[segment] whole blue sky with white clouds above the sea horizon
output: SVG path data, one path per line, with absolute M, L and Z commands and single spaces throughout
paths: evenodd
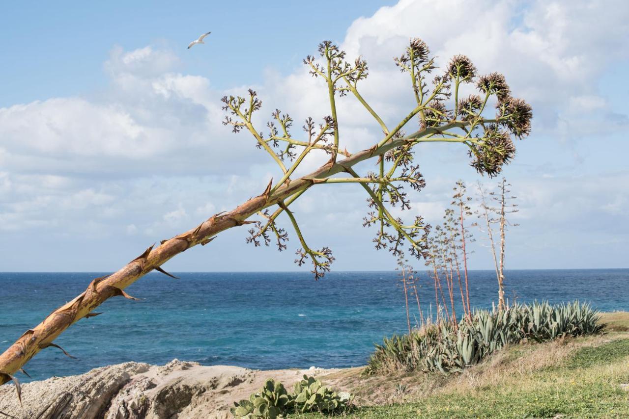
M 205 31 L 206 45 L 187 50 Z M 395 124 L 413 99 L 392 58 L 413 37 L 440 65 L 462 53 L 481 73 L 504 73 L 513 95 L 533 106 L 532 134 L 503 171 L 520 205 L 507 267 L 628 267 L 626 2 L 110 1 L 3 7 L 0 271 L 115 271 L 153 242 L 258 195 L 278 170 L 250 136 L 221 124 L 220 98 L 257 90 L 260 129 L 276 108 L 296 126 L 320 121 L 330 113 L 326 88 L 301 62 L 320 41 L 367 60 L 362 94 Z M 339 119 L 342 147 L 379 141 L 351 97 L 340 101 Z M 459 179 L 470 193 L 476 182 L 497 183 L 457 144 L 422 144 L 416 158 L 427 186 L 411 194 L 408 219 L 441 222 Z M 361 226 L 359 186 L 313 188 L 294 212 L 311 247 L 333 249 L 333 269 L 394 268 Z M 293 264 L 299 246 L 288 220 L 279 224 L 291 237 L 283 253 L 245 244 L 240 227 L 164 268 L 304 269 Z M 484 235 L 473 232 L 470 268 L 489 269 Z

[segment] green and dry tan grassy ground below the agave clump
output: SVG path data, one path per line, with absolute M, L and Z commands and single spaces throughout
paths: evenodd
M 462 374 L 323 378 L 362 404 L 352 418 L 629 418 L 629 313 L 606 313 L 607 333 L 508 347 Z M 291 415 L 317 418 L 320 414 Z

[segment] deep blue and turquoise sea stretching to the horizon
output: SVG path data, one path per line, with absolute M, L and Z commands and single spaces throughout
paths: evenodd
M 103 273 L 0 273 L 0 351 Z M 111 298 L 102 315 L 82 319 L 26 365 L 33 379 L 65 376 L 125 361 L 173 358 L 259 369 L 364 365 L 374 342 L 404 332 L 404 295 L 396 271 L 300 273 L 158 273 Z M 579 299 L 599 310 L 629 310 L 629 269 L 513 270 L 507 293 L 520 302 Z M 470 273 L 475 307 L 496 300 L 493 271 Z M 434 291 L 421 277 L 420 302 Z M 459 297 L 460 300 L 460 297 Z M 418 317 L 416 302 L 411 315 Z M 460 303 L 460 302 L 459 302 Z M 461 312 L 459 307 L 459 312 Z M 26 377 L 22 381 L 28 381 Z

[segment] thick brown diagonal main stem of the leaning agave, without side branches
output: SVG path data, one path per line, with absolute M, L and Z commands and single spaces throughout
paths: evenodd
M 147 249 L 140 257 L 133 259 L 115 273 L 91 281 L 87 289 L 74 300 L 57 308 L 33 329 L 26 330 L 13 345 L 0 355 L 0 384 L 7 383 L 11 379 L 11 375 L 16 373 L 39 351 L 50 346 L 70 325 L 81 318 L 89 317 L 89 314 L 108 298 L 120 295 L 128 297 L 122 290 L 153 269 L 160 268 L 162 264 L 177 254 L 197 244 L 206 244 L 216 234 L 231 227 L 241 226 L 251 215 L 311 187 L 315 183 L 313 179 L 328 178 L 342 173 L 361 161 L 384 155 L 392 148 L 407 143 L 420 143 L 423 136 L 442 132 L 460 124 L 465 125 L 467 122 L 450 122 L 442 127 L 427 128 L 405 138 L 389 139 L 381 145 L 374 144 L 372 148 L 355 153 L 345 160 L 336 163 L 330 161 L 309 175 L 292 180 L 273 192 L 267 189 L 262 195 L 244 202 L 230 212 L 214 215 L 199 226 L 163 241 L 156 248 Z

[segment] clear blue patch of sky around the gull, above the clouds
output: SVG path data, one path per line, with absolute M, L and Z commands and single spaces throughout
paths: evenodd
M 125 50 L 157 45 L 183 54 L 199 31 L 212 31 L 204 53 L 181 55 L 180 70 L 201 74 L 223 89 L 262 81 L 250 63 L 286 72 L 304 51 L 323 39 L 340 40 L 352 21 L 394 1 L 296 2 L 110 1 L 45 3 L 37 8 L 11 2 L 0 16 L 0 45 L 9 65 L 0 106 L 48 97 L 89 95 L 108 79 L 103 61 L 114 45 Z M 333 10 L 333 13 L 330 11 Z

